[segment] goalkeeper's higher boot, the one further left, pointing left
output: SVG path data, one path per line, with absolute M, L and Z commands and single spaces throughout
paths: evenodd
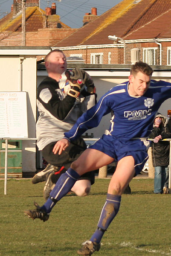
M 53 171 L 57 172 L 58 167 L 49 163 L 43 171 L 35 174 L 35 176 L 32 178 L 32 183 L 36 184 L 36 183 L 45 181 L 46 176 Z

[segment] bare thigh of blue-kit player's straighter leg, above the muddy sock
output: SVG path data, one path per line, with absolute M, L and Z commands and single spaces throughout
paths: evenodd
M 110 180 L 108 193 L 113 195 L 121 195 L 134 175 L 134 158 L 132 156 L 123 157 L 121 160 L 119 160 L 116 171 Z

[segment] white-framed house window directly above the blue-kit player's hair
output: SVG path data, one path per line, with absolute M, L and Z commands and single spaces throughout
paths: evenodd
M 143 61 L 148 65 L 157 64 L 157 47 L 143 49 Z

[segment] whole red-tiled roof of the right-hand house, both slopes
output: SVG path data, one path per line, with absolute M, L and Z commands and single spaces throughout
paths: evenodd
M 121 38 L 154 38 L 156 36 L 170 35 L 171 0 L 123 0 L 96 20 L 88 23 L 75 33 L 55 44 L 54 47 L 67 47 L 90 44 L 111 44 L 108 35 L 116 35 Z M 166 13 L 167 12 L 167 13 Z M 165 19 L 163 22 L 160 15 Z M 146 26 L 155 20 L 155 26 Z M 160 23 L 160 24 L 159 24 Z M 145 29 L 141 27 L 145 26 Z M 160 29 L 159 29 L 160 28 Z M 159 33 L 157 34 L 158 30 Z M 133 32 L 135 31 L 136 32 Z M 130 34 L 132 32 L 132 34 Z M 126 37 L 129 35 L 129 37 Z M 169 36 L 170 37 L 170 36 Z

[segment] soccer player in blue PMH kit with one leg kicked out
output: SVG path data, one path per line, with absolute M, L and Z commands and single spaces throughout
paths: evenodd
M 61 175 L 46 203 L 42 207 L 37 206 L 37 209 L 25 211 L 29 218 L 48 220 L 52 208 L 81 175 L 118 161 L 97 229 L 90 240 L 82 244 L 79 255 L 99 251 L 102 236 L 119 211 L 124 189 L 140 173 L 148 159 L 147 138 L 153 128 L 155 115 L 162 102 L 171 98 L 171 83 L 151 80 L 152 73 L 152 68 L 142 61 L 133 64 L 129 81 L 110 89 L 94 107 L 78 118 L 70 131 L 64 133 L 65 137 L 53 148 L 54 154 L 61 154 L 70 141 L 80 137 L 87 129 L 98 126 L 102 116 L 111 111 L 114 113 L 109 130 Z

